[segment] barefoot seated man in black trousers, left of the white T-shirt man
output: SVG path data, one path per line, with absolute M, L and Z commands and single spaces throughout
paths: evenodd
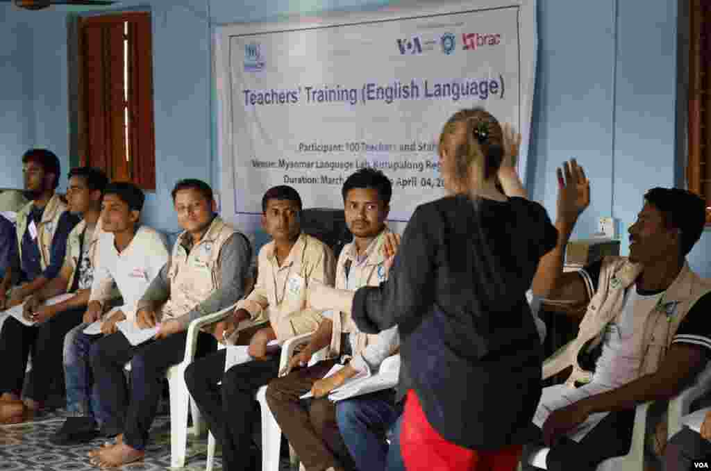
M 26 326 L 11 317 L 6 319 L 0 334 L 1 355 L 7 361 L 0 380 L 4 383 L 2 391 L 6 398 L 19 399 L 27 353 L 32 353 L 32 370 L 24 404 L 18 401 L 4 403 L 3 406 L 10 410 L 0 412 L 3 418 L 15 422 L 26 418 L 28 411 L 36 411 L 46 400 L 50 381 L 61 369 L 64 335 L 81 322 L 89 300 L 96 247 L 102 235 L 101 229 L 97 228 L 97 220 L 107 178 L 100 170 L 81 167 L 72 169 L 68 179 L 69 211 L 81 216 L 82 221 L 69 234 L 62 269 L 40 290 L 25 298 L 23 317 L 35 324 Z M 74 296 L 52 305 L 42 305 L 64 293 L 74 293 Z

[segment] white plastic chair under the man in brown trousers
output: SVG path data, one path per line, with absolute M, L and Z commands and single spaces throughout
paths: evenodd
M 306 345 L 311 341 L 311 335 L 301 334 L 284 342 L 281 356 L 279 357 L 279 371 L 282 371 L 289 364 L 289 359 L 294 355 L 296 348 Z M 327 348 L 327 347 L 326 347 Z M 309 366 L 325 358 L 326 348 L 316 352 L 311 356 Z M 266 398 L 267 386 L 262 386 L 257 390 L 257 401 L 260 403 L 262 411 L 262 471 L 279 471 L 279 458 L 282 445 L 282 429 L 279 428 L 277 420 L 269 410 Z M 206 471 L 212 471 L 215 461 L 215 437 L 212 433 L 208 436 L 208 463 Z

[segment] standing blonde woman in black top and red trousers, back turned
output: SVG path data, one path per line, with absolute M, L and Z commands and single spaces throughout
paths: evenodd
M 393 444 L 408 471 L 513 471 L 526 441 L 542 350 L 525 292 L 557 231 L 524 197 L 519 140 L 481 108 L 449 118 L 439 141 L 449 195 L 417 207 L 389 279 L 348 306 L 363 332 L 400 330 L 406 402 Z M 334 297 L 351 299 L 319 287 L 312 304 Z

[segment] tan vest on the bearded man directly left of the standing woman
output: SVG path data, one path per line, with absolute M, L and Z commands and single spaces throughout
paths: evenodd
M 350 276 L 355 276 L 355 270 L 360 272 L 358 287 L 379 286 L 380 282 L 385 281 L 387 276 L 384 271 L 385 256 L 383 255 L 383 244 L 385 243 L 385 235 L 387 233 L 390 233 L 390 229 L 386 227 L 385 230 L 378 235 L 378 238 L 375 240 L 375 246 L 368 255 L 368 259 L 365 260 L 363 267 L 355 268 L 355 266 L 353 266 L 355 264 L 351 265 Z M 341 250 L 341 255 L 338 256 L 338 265 L 336 265 L 336 289 L 346 289 L 346 270 L 344 267 L 346 260 L 348 260 L 348 253 L 353 250 L 354 244 L 355 242 L 351 242 L 344 245 Z M 341 355 L 341 332 L 344 332 L 344 329 L 348 332 L 355 332 L 353 355 L 360 354 L 369 344 L 378 342 L 378 334 L 360 332 L 355 322 L 353 322 L 351 313 L 341 312 L 341 315 L 333 316 L 333 334 L 331 335 L 331 346 L 328 351 L 329 357 Z

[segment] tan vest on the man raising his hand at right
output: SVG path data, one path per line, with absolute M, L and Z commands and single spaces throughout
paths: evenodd
M 582 369 L 578 364 L 578 355 L 591 340 L 589 349 L 599 345 L 607 324 L 618 322 L 624 309 L 625 292 L 627 289 L 635 289 L 634 282 L 641 271 L 640 265 L 631 263 L 625 257 L 603 259 L 597 292 L 590 299 L 577 337 L 545 362 L 543 379 L 572 365 L 573 371 L 565 381 L 568 386 L 574 387 L 576 382 L 587 383 L 592 380 L 592 371 Z M 633 338 L 638 345 L 636 348 L 642 352 L 639 376 L 657 371 L 680 322 L 694 303 L 709 290 L 711 280 L 700 278 L 684 263 L 661 300 L 638 300 L 635 303 Z

